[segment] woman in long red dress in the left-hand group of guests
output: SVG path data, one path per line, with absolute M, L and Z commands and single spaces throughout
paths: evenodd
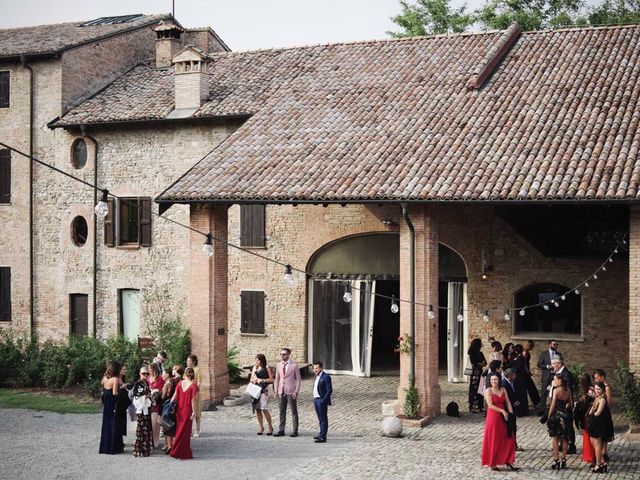
M 193 458 L 191 452 L 191 428 L 195 418 L 195 397 L 198 393 L 198 385 L 194 378 L 193 368 L 187 368 L 184 372 L 184 380 L 176 386 L 176 393 L 172 401 L 176 402 L 176 434 L 173 437 L 173 445 L 169 455 L 174 458 Z

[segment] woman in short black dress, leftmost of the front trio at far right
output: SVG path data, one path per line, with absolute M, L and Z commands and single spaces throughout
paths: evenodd
M 567 468 L 567 451 L 569 450 L 569 435 L 571 422 L 573 421 L 573 398 L 571 390 L 562 375 L 554 375 L 551 380 L 553 395 L 551 406 L 549 407 L 549 419 L 547 420 L 547 430 L 552 440 L 553 448 L 553 470 Z M 560 456 L 562 449 L 562 456 Z

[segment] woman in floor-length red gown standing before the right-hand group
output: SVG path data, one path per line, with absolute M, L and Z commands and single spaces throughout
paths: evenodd
M 513 466 L 516 460 L 515 432 L 512 436 L 507 432 L 509 414 L 513 415 L 509 396 L 500 386 L 498 374 L 492 373 L 489 381 L 491 388 L 484 392 L 487 419 L 482 440 L 482 465 L 491 467 L 492 470 L 499 470 L 498 465 L 506 465 L 510 470 L 520 470 Z

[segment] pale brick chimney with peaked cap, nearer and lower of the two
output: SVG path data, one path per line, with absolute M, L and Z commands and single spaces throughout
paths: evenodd
M 200 108 L 209 97 L 207 55 L 193 45 L 173 59 L 175 65 L 175 109 Z

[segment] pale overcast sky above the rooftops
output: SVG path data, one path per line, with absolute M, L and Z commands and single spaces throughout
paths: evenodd
M 463 3 L 460 1 L 460 3 Z M 477 8 L 483 0 L 469 0 Z M 387 38 L 399 0 L 175 0 L 184 27 L 210 26 L 232 50 Z M 43 8 L 46 6 L 46 8 Z M 171 12 L 171 0 L 0 0 L 0 28 Z

